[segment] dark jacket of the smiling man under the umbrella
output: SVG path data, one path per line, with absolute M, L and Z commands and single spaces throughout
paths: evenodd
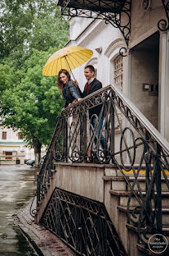
M 88 84 L 88 83 L 87 83 Z M 85 88 L 83 90 L 83 93 L 82 93 L 82 98 L 86 97 L 87 96 L 87 84 L 85 85 Z M 92 94 L 94 92 L 96 92 L 98 89 L 101 89 L 102 88 L 102 84 L 99 80 L 96 80 L 96 78 L 91 82 L 91 88 L 89 90 L 89 94 Z M 89 117 L 91 118 L 91 116 L 93 114 L 96 114 L 97 116 L 99 116 L 100 114 L 100 111 L 101 111 L 101 107 L 103 105 L 99 105 L 97 107 L 92 107 L 91 109 L 89 109 Z

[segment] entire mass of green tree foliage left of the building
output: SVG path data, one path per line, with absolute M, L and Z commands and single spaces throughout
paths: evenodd
M 48 144 L 63 107 L 56 77 L 42 75 L 52 53 L 64 47 L 69 25 L 56 1 L 0 2 L 0 115 L 29 144 Z

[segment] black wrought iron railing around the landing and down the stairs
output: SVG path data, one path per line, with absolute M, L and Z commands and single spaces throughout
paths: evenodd
M 98 106 L 99 117 L 91 116 L 90 110 Z M 113 163 L 130 189 L 128 222 L 138 227 L 140 241 L 147 244 L 149 233 L 162 233 L 162 190 L 165 196 L 169 190 L 168 159 L 167 141 L 116 85 L 109 85 L 65 108 L 57 118 L 38 176 L 38 202 L 56 162 Z M 129 173 L 133 181 L 128 179 Z M 140 184 L 140 176 L 145 176 L 144 184 Z

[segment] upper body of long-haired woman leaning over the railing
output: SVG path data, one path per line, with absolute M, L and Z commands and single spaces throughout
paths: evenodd
M 60 70 L 57 78 L 57 85 L 65 99 L 64 107 L 68 107 L 69 103 L 75 103 L 76 101 L 81 100 L 78 86 L 70 79 L 68 71 L 64 69 Z

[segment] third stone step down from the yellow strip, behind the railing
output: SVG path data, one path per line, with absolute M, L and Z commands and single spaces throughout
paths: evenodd
M 119 212 L 127 214 L 127 207 L 118 206 L 117 208 L 118 208 Z M 134 207 L 129 208 L 129 213 L 132 213 L 133 209 L 134 209 Z M 154 211 L 154 209 L 152 211 Z M 136 219 L 139 217 L 139 213 L 140 213 L 140 209 L 136 209 L 136 211 L 135 211 Z M 135 219 L 135 221 L 136 221 L 136 219 Z M 162 208 L 162 224 L 165 225 L 168 223 L 169 223 L 169 208 Z

